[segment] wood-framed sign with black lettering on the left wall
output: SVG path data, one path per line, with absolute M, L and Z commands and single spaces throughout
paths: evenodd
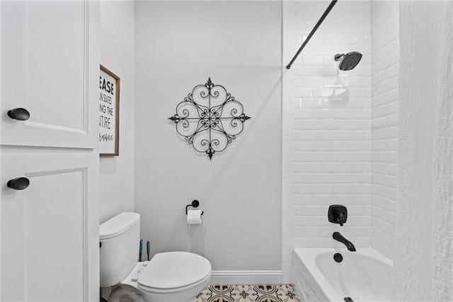
M 117 156 L 120 132 L 120 78 L 102 65 L 99 91 L 99 156 Z

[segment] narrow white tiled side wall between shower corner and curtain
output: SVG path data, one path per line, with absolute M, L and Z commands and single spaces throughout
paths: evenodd
M 372 1 L 372 247 L 393 259 L 398 197 L 398 1 Z

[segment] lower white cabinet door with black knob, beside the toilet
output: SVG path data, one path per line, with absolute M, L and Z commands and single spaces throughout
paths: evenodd
M 24 150 L 1 151 L 0 300 L 96 301 L 98 154 Z

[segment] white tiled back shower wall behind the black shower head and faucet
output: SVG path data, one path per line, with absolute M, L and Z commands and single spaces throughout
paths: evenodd
M 284 66 L 330 1 L 285 1 Z M 371 245 L 371 25 L 369 1 L 338 1 L 283 79 L 283 249 Z M 358 51 L 340 71 L 334 56 Z M 328 222 L 330 204 L 348 207 L 343 226 Z M 344 245 L 343 245 L 344 247 Z M 286 277 L 286 276 L 285 276 Z M 284 279 L 285 281 L 285 279 Z

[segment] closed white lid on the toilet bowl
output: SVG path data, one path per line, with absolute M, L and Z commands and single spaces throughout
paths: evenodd
M 154 255 L 137 282 L 154 289 L 188 286 L 211 273 L 211 263 L 192 252 L 161 252 Z

